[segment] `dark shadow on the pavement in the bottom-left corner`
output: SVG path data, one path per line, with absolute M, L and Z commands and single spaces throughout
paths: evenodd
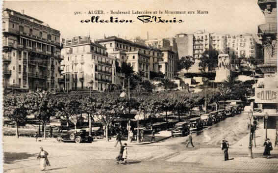
M 23 160 L 35 156 L 37 154 L 28 154 L 27 152 L 4 152 L 4 163 L 10 164 L 16 160 Z

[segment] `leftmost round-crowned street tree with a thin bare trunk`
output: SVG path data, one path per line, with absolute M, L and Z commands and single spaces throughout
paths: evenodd
M 27 107 L 25 98 L 5 97 L 3 99 L 3 116 L 15 122 L 16 138 L 19 138 L 19 124 L 27 119 Z

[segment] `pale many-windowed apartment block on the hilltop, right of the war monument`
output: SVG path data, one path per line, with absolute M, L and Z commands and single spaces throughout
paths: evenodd
M 227 35 L 226 38 L 227 54 L 234 54 L 237 58 L 257 58 L 257 43 L 252 34 Z

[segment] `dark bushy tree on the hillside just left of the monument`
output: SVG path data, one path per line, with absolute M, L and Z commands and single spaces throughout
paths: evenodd
M 218 52 L 216 50 L 205 50 L 200 58 L 199 67 L 202 72 L 208 68 L 211 71 L 218 64 Z

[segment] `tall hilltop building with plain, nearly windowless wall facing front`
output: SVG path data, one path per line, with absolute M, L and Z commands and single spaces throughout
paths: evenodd
M 193 34 L 179 33 L 175 38 L 178 58 L 193 56 Z

